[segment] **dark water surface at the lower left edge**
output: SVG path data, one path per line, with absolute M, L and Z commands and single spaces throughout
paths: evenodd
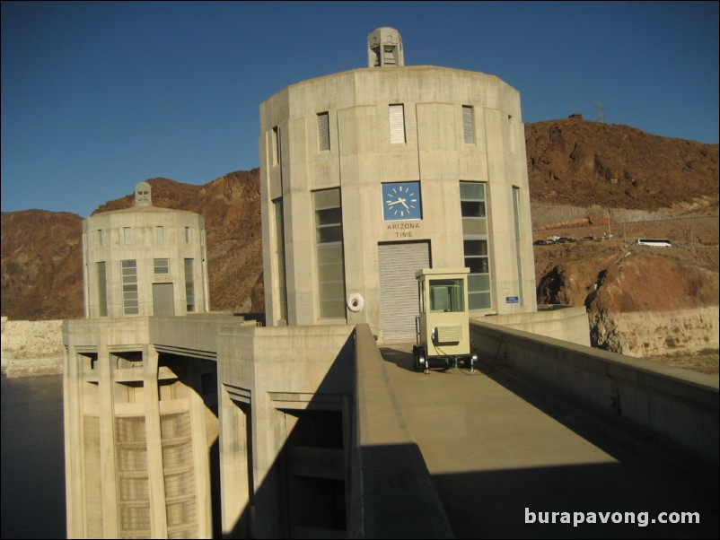
M 3 538 L 65 538 L 62 376 L 2 377 Z

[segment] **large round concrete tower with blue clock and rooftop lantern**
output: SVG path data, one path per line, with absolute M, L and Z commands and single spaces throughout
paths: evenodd
M 370 32 L 367 58 L 260 105 L 268 325 L 412 341 L 415 272 L 431 266 L 470 268 L 473 317 L 536 311 L 518 92 L 405 65 L 391 28 Z

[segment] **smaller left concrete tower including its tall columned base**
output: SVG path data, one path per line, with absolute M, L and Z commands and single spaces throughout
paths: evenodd
M 83 222 L 85 318 L 63 328 L 68 538 L 212 536 L 215 362 L 189 360 L 180 322 L 208 315 L 206 265 L 202 216 L 154 206 L 145 182 Z

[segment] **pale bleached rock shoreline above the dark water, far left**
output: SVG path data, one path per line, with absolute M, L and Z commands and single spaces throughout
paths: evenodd
M 2 370 L 8 378 L 63 372 L 62 320 L 2 322 Z

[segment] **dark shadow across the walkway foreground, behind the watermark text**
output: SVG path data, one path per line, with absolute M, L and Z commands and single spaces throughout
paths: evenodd
M 649 483 L 638 485 L 648 476 Z M 468 472 L 434 475 L 433 482 L 457 538 L 718 535 L 716 499 L 638 472 L 637 464 Z M 677 522 L 660 523 L 661 518 Z

